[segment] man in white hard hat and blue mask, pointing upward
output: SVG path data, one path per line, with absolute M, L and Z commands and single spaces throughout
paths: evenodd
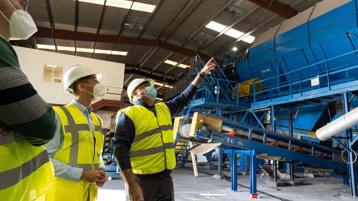
M 152 79 L 134 79 L 127 92 L 134 106 L 116 117 L 114 155 L 126 185 L 126 200 L 174 200 L 175 167 L 171 119 L 189 106 L 203 78 L 214 69 L 211 58 L 192 84 L 173 100 L 155 103 Z

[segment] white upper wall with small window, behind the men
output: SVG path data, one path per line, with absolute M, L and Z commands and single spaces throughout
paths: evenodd
M 19 46 L 13 47 L 18 55 L 21 69 L 38 94 L 50 104 L 63 105 L 71 102 L 72 95 L 64 92 L 62 78 L 66 70 L 76 64 L 85 65 L 102 74 L 99 81 L 107 88 L 104 99 L 121 99 L 118 94 L 123 90 L 125 64 Z

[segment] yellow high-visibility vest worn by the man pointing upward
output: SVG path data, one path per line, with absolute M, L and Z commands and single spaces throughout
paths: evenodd
M 136 174 L 171 170 L 176 164 L 169 108 L 165 103 L 154 106 L 157 117 L 144 106 L 131 106 L 117 112 L 116 122 L 122 112 L 134 122 L 135 137 L 129 156 Z

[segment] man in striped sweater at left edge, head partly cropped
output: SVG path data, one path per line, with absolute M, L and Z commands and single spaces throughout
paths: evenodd
M 41 199 L 54 185 L 53 166 L 41 145 L 54 137 L 55 113 L 20 69 L 8 42 L 37 31 L 27 5 L 27 0 L 0 0 L 0 200 Z

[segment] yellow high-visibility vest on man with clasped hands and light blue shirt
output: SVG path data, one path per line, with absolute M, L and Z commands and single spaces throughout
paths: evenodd
M 54 159 L 72 167 L 83 170 L 98 170 L 104 136 L 102 119 L 91 113 L 94 138 L 89 123 L 82 112 L 74 105 L 54 107 L 61 119 L 64 133 L 62 148 L 55 153 Z M 80 179 L 78 182 L 55 177 L 55 187 L 46 194 L 45 200 L 95 200 L 97 198 L 96 183 L 89 183 Z

